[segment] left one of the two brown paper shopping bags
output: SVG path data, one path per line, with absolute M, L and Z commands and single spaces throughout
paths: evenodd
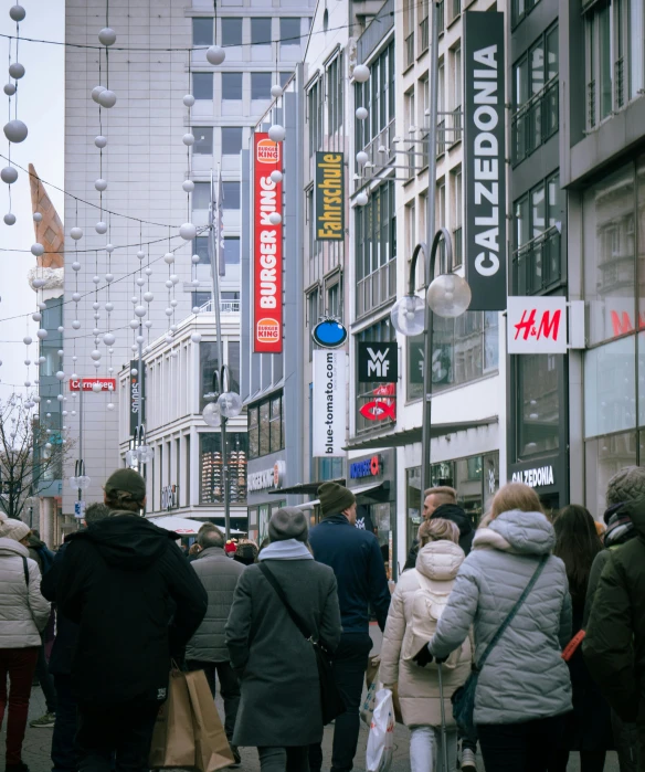
M 150 768 L 161 766 L 194 766 L 192 710 L 186 674 L 180 670 L 170 673 L 168 699 L 159 709 L 152 733 Z

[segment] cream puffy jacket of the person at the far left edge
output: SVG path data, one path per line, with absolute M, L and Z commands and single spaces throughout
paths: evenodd
M 50 618 L 50 604 L 40 591 L 39 568 L 28 556 L 27 547 L 18 541 L 0 539 L 0 648 L 40 646 L 40 632 Z

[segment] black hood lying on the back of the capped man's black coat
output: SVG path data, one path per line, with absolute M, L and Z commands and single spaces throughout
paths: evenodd
M 70 541 L 91 541 L 109 565 L 140 571 L 163 554 L 169 539 L 179 538 L 144 517 L 117 510 L 112 517 L 73 533 Z

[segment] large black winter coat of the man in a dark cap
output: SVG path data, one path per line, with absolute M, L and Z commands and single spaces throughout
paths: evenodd
M 68 538 L 56 599 L 80 625 L 72 685 L 81 702 L 166 698 L 171 656 L 181 658 L 208 605 L 178 538 L 126 511 Z

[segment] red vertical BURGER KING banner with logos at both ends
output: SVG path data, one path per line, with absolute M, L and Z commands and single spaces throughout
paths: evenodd
M 282 172 L 282 144 L 268 134 L 253 137 L 253 351 L 282 353 L 283 350 L 283 224 L 282 181 L 271 179 Z

